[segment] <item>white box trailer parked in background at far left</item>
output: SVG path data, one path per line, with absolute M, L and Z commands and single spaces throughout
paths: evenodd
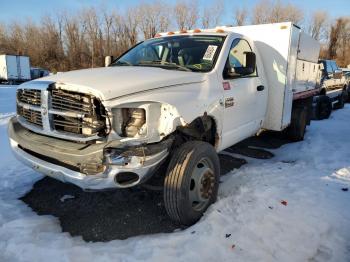
M 0 83 L 19 84 L 29 80 L 28 56 L 0 55 Z

